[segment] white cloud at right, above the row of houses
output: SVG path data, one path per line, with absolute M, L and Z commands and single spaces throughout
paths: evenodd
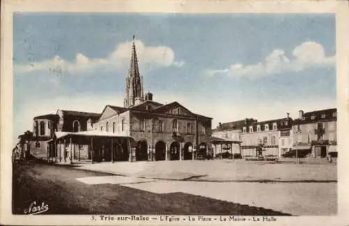
M 318 42 L 303 42 L 295 47 L 292 56 L 288 57 L 283 49 L 274 49 L 260 63 L 242 65 L 235 63 L 230 67 L 219 70 L 206 70 L 206 76 L 226 75 L 260 79 L 282 72 L 297 72 L 316 65 L 335 65 L 335 56 L 325 56 L 325 49 Z

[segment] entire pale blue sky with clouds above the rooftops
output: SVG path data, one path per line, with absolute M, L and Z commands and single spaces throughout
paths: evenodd
M 144 89 L 214 127 L 336 106 L 334 15 L 17 13 L 15 135 L 58 108 L 121 106 L 133 34 Z

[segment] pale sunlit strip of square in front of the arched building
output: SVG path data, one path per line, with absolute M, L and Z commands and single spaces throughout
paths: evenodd
M 85 163 L 79 168 L 133 177 L 202 181 L 337 181 L 336 164 L 309 159 L 303 164 L 255 161 L 139 161 Z

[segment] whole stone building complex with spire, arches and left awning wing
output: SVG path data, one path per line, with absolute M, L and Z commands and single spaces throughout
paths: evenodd
M 144 93 L 133 40 L 124 106 L 107 105 L 102 113 L 58 110 L 36 116 L 28 148 L 42 159 L 70 163 L 196 159 L 209 151 L 211 120 Z

